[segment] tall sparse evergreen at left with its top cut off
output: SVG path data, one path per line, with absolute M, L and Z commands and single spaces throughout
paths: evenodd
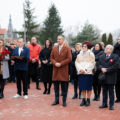
M 31 37 L 38 37 L 39 32 L 38 32 L 38 28 L 39 28 L 39 24 L 37 24 L 35 22 L 35 18 L 36 16 L 33 15 L 34 14 L 34 9 L 31 8 L 31 2 L 30 0 L 25 0 L 25 5 L 24 5 L 24 15 L 25 15 L 25 24 L 23 26 L 25 26 L 25 30 L 26 30 L 26 40 L 30 40 Z M 20 37 L 24 36 L 24 31 L 20 31 L 18 32 L 18 34 L 20 35 Z

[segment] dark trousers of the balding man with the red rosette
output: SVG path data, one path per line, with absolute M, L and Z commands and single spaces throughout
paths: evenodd
M 107 105 L 109 93 L 109 105 L 114 105 L 114 85 L 103 85 L 103 105 Z

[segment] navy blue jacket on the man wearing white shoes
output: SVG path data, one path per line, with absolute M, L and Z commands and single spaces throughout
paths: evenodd
M 18 47 L 14 49 L 12 56 L 19 56 Z M 23 60 L 15 59 L 15 71 L 27 71 L 28 70 L 28 60 L 30 59 L 30 50 L 27 47 L 23 47 L 23 51 L 20 54 L 21 57 L 24 57 Z

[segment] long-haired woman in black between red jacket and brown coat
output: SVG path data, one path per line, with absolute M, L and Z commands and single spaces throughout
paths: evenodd
M 45 47 L 40 52 L 40 61 L 41 61 L 41 81 L 44 83 L 44 92 L 43 94 L 50 94 L 50 89 L 52 85 L 52 71 L 53 66 L 50 62 L 50 54 L 52 51 L 52 41 L 46 40 Z

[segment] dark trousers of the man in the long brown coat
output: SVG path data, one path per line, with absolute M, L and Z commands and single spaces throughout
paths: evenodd
M 61 90 L 62 90 L 62 100 L 63 102 L 66 102 L 67 93 L 68 93 L 68 82 L 54 82 L 54 91 L 55 91 L 55 101 L 59 101 L 59 85 L 61 84 Z

